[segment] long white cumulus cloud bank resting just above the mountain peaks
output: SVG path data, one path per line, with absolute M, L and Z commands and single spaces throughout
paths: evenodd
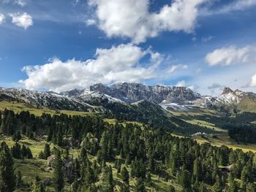
M 148 65 L 140 61 L 148 58 Z M 162 55 L 151 49 L 142 50 L 135 45 L 118 45 L 110 49 L 97 49 L 95 58 L 87 61 L 60 61 L 53 59 L 42 66 L 25 66 L 28 78 L 19 82 L 29 89 L 46 88 L 50 91 L 67 91 L 88 88 L 97 82 L 140 82 L 156 77 Z

